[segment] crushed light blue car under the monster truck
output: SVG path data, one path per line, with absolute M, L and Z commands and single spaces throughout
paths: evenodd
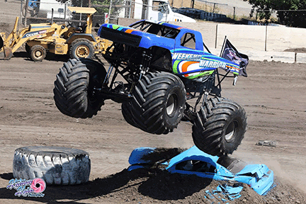
M 154 162 L 143 159 L 145 155 L 154 153 L 152 147 L 140 147 L 130 154 L 129 171 L 147 168 Z M 166 171 L 178 174 L 193 174 L 217 181 L 237 181 L 246 183 L 259 195 L 263 195 L 273 185 L 273 171 L 265 164 L 246 164 L 231 157 L 217 157 L 200 151 L 193 146 L 173 157 L 166 165 Z

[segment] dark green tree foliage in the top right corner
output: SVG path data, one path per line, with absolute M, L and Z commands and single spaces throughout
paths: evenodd
M 252 5 L 250 16 L 255 11 L 261 20 L 268 21 L 276 11 L 278 21 L 287 26 L 306 28 L 306 0 L 244 0 Z M 305 10 L 305 11 L 300 11 Z

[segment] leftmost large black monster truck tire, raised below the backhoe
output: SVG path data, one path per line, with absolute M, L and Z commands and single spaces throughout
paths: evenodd
M 60 68 L 53 89 L 55 105 L 65 115 L 91 118 L 104 105 L 97 98 L 94 87 L 99 88 L 106 76 L 103 64 L 90 59 L 69 59 Z

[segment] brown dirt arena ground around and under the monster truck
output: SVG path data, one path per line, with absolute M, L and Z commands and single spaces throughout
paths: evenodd
M 233 157 L 266 164 L 276 175 L 266 196 L 244 186 L 242 196 L 231 201 L 208 195 L 219 181 L 160 169 L 128 172 L 130 152 L 137 147 L 192 147 L 191 124 L 181 122 L 169 135 L 151 135 L 128 125 L 113 101 L 106 101 L 94 118 L 69 118 L 52 98 L 55 75 L 65 61 L 47 56 L 32 62 L 26 52 L 0 61 L 0 203 L 306 203 L 306 64 L 251 61 L 249 77 L 239 77 L 237 86 L 232 78 L 222 84 L 222 96 L 244 106 L 248 115 L 248 130 Z M 259 140 L 277 145 L 255 145 Z M 44 198 L 15 197 L 6 189 L 13 178 L 13 152 L 33 145 L 89 152 L 90 181 L 47 186 Z

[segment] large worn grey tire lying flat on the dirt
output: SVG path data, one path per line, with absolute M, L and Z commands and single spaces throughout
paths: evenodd
M 40 178 L 47 184 L 73 185 L 89 181 L 91 159 L 87 152 L 66 147 L 21 147 L 15 150 L 13 176 Z

